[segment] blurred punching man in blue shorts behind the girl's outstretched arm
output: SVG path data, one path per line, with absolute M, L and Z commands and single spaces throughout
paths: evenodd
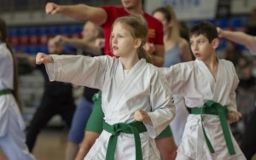
M 85 56 L 98 56 L 103 54 L 103 49 L 96 47 L 97 38 L 103 37 L 102 28 L 94 23 L 87 21 L 81 32 L 82 38 L 68 38 L 58 35 L 55 37 L 55 43 L 61 43 L 72 46 L 76 51 L 75 54 Z M 66 148 L 66 160 L 73 160 L 78 151 L 79 144 L 84 139 L 84 128 L 93 109 L 92 96 L 98 89 L 84 87 L 83 95 L 73 116 L 71 129 L 68 133 L 68 142 Z

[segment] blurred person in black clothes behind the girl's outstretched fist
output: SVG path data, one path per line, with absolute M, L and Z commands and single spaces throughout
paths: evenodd
M 48 49 L 49 54 L 67 54 L 64 52 L 63 45 L 55 44 L 54 37 L 49 38 Z M 34 60 L 35 63 L 34 57 L 30 60 Z M 49 82 L 44 65 L 38 66 L 38 69 L 42 71 L 44 76 L 44 94 L 26 132 L 26 145 L 31 152 L 40 130 L 44 128 L 51 117 L 61 115 L 67 126 L 70 127 L 76 108 L 72 84 Z

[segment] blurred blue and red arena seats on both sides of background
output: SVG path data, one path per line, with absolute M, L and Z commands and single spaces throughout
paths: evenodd
M 200 20 L 187 22 L 189 27 L 194 26 Z M 247 17 L 221 18 L 208 20 L 216 26 L 229 30 L 245 31 Z M 9 43 L 12 43 L 15 52 L 35 54 L 38 51 L 47 52 L 47 42 L 50 36 L 61 34 L 67 37 L 81 37 L 83 24 L 59 25 L 59 26 L 16 26 L 9 28 Z M 224 49 L 225 41 L 221 41 L 218 49 Z M 68 49 L 68 47 L 67 47 Z

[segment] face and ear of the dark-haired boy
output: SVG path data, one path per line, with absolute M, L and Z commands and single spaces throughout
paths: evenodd
M 218 38 L 209 40 L 204 35 L 193 35 L 190 37 L 190 48 L 198 60 L 208 60 L 213 55 L 215 55 L 215 49 L 218 47 Z

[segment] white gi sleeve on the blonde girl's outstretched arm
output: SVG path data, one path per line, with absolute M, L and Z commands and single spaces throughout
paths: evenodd
M 51 55 L 54 63 L 46 64 L 50 81 L 60 81 L 102 89 L 107 56 Z

